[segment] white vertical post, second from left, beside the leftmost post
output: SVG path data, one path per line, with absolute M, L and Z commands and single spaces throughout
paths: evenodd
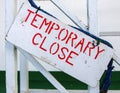
M 27 2 L 27 0 L 17 0 L 17 11 L 21 5 Z M 20 62 L 20 93 L 28 93 L 29 91 L 29 72 L 28 72 L 28 62 L 22 53 L 19 53 Z

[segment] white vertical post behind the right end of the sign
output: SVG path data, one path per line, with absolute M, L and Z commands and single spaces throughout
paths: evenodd
M 97 0 L 87 0 L 89 32 L 98 36 Z M 96 87 L 88 86 L 88 93 L 99 93 L 99 81 Z

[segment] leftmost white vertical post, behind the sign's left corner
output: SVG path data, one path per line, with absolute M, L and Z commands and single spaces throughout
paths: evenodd
M 16 0 L 5 0 L 5 34 L 15 16 Z M 9 42 L 5 42 L 5 57 L 6 57 L 6 93 L 17 93 L 17 52 L 15 47 Z

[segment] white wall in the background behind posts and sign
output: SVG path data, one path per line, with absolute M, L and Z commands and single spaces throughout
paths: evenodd
M 18 0 L 21 2 L 22 0 Z M 4 25 L 5 25 L 5 0 L 0 0 L 0 70 L 5 69 L 5 49 L 4 49 Z M 49 0 L 36 2 L 41 8 L 58 17 L 64 23 L 74 25 L 67 17 L 65 17 Z M 119 32 L 120 34 L 120 0 L 98 0 L 98 27 L 99 32 Z M 20 4 L 18 4 L 20 5 Z M 72 11 L 78 19 L 87 25 L 87 8 L 86 0 L 64 0 L 64 5 Z M 9 16 L 8 16 L 9 17 Z M 102 38 L 112 43 L 120 57 L 120 36 L 102 36 Z M 51 66 L 45 67 L 48 70 L 55 70 Z M 120 67 L 115 64 L 115 69 Z M 30 64 L 29 68 L 35 70 Z

